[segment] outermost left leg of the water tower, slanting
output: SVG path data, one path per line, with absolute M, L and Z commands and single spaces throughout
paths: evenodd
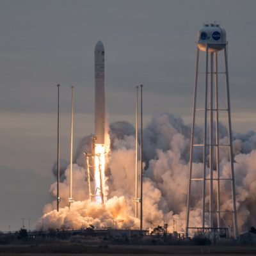
M 198 81 L 198 61 L 199 61 L 199 48 L 197 47 L 196 52 L 196 76 L 195 76 L 195 91 L 194 91 L 194 102 L 193 102 L 193 120 L 191 127 L 190 137 L 190 154 L 189 154 L 189 177 L 188 177 L 188 201 L 187 201 L 187 216 L 186 216 L 186 235 L 188 236 L 189 228 L 189 209 L 190 209 L 190 190 L 191 190 L 191 175 L 192 175 L 192 163 L 193 163 L 193 144 L 194 144 L 194 133 L 195 133 L 195 114 L 196 114 L 196 93 L 197 93 L 197 81 Z

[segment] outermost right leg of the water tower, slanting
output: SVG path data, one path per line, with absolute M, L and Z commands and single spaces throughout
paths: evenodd
M 229 92 L 229 79 L 228 79 L 228 56 L 227 56 L 227 44 L 224 48 L 225 53 L 225 73 L 226 73 L 226 86 L 227 86 L 227 109 L 228 109 L 228 137 L 229 137 L 229 155 L 230 155 L 230 168 L 231 168 L 231 179 L 232 179 L 232 198 L 233 198 L 233 222 L 234 222 L 234 235 L 238 236 L 237 230 L 237 216 L 236 216 L 236 184 L 234 174 L 234 156 L 233 156 L 233 145 L 232 145 L 232 128 L 231 128 L 231 115 L 230 115 L 230 92 Z

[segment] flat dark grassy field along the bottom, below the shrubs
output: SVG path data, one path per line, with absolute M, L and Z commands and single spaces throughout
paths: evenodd
M 0 255 L 22 255 L 22 256 L 58 256 L 65 255 L 256 255 L 256 246 L 81 246 L 72 244 L 70 246 L 40 245 L 40 246 L 0 246 Z

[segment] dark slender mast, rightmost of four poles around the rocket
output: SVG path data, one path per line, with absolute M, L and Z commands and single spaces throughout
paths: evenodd
M 141 103 L 141 107 L 140 107 L 140 230 L 143 229 L 143 212 L 142 212 L 142 209 L 143 209 L 143 157 L 142 157 L 142 148 L 143 148 L 143 140 L 142 140 L 142 129 L 143 129 L 143 123 L 142 123 L 142 87 L 143 87 L 143 84 L 140 85 L 140 96 L 141 96 L 141 99 L 140 99 L 140 103 Z

